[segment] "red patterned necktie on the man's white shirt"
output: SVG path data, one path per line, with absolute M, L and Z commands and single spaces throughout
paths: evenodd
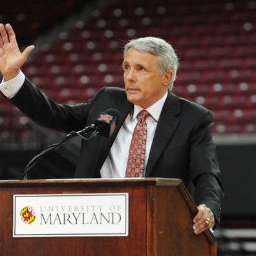
M 147 123 L 145 120 L 147 116 L 149 116 L 149 112 L 145 109 L 138 113 L 138 123 L 133 131 L 125 177 L 143 177 L 147 142 Z

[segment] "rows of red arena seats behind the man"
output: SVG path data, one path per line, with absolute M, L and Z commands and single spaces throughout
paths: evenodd
M 54 100 L 78 103 L 103 86 L 123 87 L 125 41 L 163 37 L 180 58 L 174 92 L 215 114 L 215 134 L 256 133 L 255 10 L 250 0 L 114 1 L 86 23 L 80 19 L 73 30 L 61 31 L 51 47 L 42 45 L 23 72 Z M 10 116 L 15 129 L 25 125 L 14 107 L 0 101 L 2 126 Z

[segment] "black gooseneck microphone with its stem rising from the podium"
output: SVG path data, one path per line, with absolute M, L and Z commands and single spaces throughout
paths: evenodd
M 64 138 L 59 140 L 59 142 L 56 142 L 55 144 L 48 145 L 45 147 L 38 155 L 34 156 L 32 160 L 27 164 L 25 167 L 25 171 L 21 175 L 21 179 L 27 180 L 28 171 L 34 165 L 37 164 L 37 162 L 43 158 L 47 153 L 52 151 L 52 149 L 58 147 L 61 144 L 64 144 L 69 140 L 70 138 L 74 138 L 76 136 L 80 136 L 83 140 L 92 140 L 95 136 L 100 134 L 101 136 L 109 137 L 112 133 L 114 133 L 116 129 L 116 125 L 120 121 L 120 112 L 116 109 L 107 109 L 104 112 L 101 112 L 91 125 L 86 126 L 81 131 L 71 131 L 69 134 L 67 134 Z M 89 134 L 90 133 L 90 134 Z M 89 137 L 86 137 L 86 135 L 89 134 Z

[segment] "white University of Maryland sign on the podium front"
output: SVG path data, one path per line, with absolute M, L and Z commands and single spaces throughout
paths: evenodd
M 14 195 L 14 237 L 125 237 L 128 193 Z

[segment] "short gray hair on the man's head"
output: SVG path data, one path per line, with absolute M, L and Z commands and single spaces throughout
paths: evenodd
M 173 47 L 164 41 L 164 39 L 158 37 L 140 37 L 132 39 L 129 43 L 125 44 L 123 56 L 127 54 L 127 51 L 131 48 L 135 48 L 140 52 L 148 52 L 156 56 L 158 65 L 160 67 L 160 75 L 164 74 L 167 70 L 173 72 L 169 88 L 173 89 L 173 83 L 176 79 L 176 72 L 178 70 L 178 57 L 175 54 Z

